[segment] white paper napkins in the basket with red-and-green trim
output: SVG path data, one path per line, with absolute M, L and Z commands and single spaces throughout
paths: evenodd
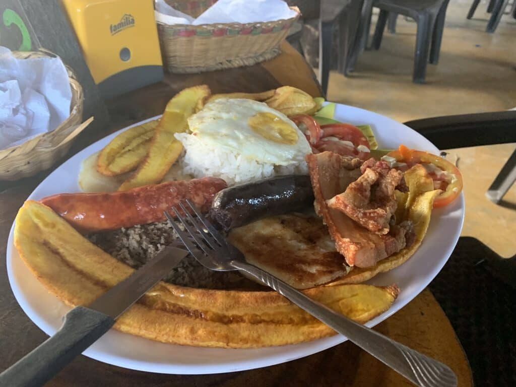
M 156 20 L 165 24 L 217 24 L 272 22 L 295 17 L 283 0 L 218 0 L 197 19 L 156 0 Z M 181 20 L 181 21 L 179 21 Z

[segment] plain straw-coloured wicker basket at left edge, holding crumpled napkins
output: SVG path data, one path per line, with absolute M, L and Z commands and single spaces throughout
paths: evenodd
M 54 54 L 44 50 L 15 51 L 13 55 L 19 59 L 55 57 Z M 68 152 L 74 137 L 91 122 L 90 119 L 81 124 L 83 88 L 75 79 L 73 71 L 69 67 L 66 69 L 72 89 L 70 116 L 53 131 L 42 133 L 20 145 L 0 150 L 0 180 L 18 180 L 50 168 Z

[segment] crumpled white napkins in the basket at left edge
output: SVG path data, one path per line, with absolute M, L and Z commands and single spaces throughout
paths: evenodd
M 0 149 L 54 130 L 70 116 L 71 100 L 61 59 L 17 59 L 0 46 Z

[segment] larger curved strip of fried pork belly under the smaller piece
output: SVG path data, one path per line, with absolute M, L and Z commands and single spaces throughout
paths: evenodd
M 332 152 L 307 155 L 315 195 L 315 208 L 324 218 L 338 252 L 349 266 L 369 267 L 406 246 L 410 222 L 391 227 L 389 234 L 369 231 L 343 212 L 331 208 L 327 200 L 344 192 L 360 175 L 362 162 Z

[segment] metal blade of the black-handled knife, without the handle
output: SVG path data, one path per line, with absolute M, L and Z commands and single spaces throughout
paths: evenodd
M 167 246 L 125 280 L 110 288 L 88 308 L 116 319 L 188 255 L 188 251 Z

